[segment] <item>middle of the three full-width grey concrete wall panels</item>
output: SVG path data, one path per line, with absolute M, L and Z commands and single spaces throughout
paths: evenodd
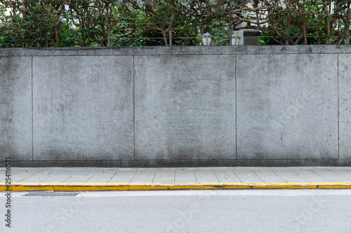
M 234 56 L 135 56 L 135 159 L 235 159 Z

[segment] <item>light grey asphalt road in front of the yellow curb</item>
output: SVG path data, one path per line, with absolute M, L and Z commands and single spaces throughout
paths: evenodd
M 350 232 L 351 190 L 1 193 L 0 232 Z

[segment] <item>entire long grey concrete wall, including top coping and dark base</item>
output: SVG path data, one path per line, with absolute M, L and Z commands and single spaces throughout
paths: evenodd
M 350 166 L 351 46 L 0 49 L 0 124 L 14 166 Z

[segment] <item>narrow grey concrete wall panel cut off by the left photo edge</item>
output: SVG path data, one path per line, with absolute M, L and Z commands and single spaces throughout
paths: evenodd
M 0 160 L 32 160 L 32 58 L 0 58 Z

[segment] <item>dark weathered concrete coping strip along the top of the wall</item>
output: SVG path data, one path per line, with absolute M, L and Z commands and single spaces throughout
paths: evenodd
M 234 45 L 110 48 L 0 48 L 0 57 L 84 55 L 259 55 L 351 53 L 351 45 Z

